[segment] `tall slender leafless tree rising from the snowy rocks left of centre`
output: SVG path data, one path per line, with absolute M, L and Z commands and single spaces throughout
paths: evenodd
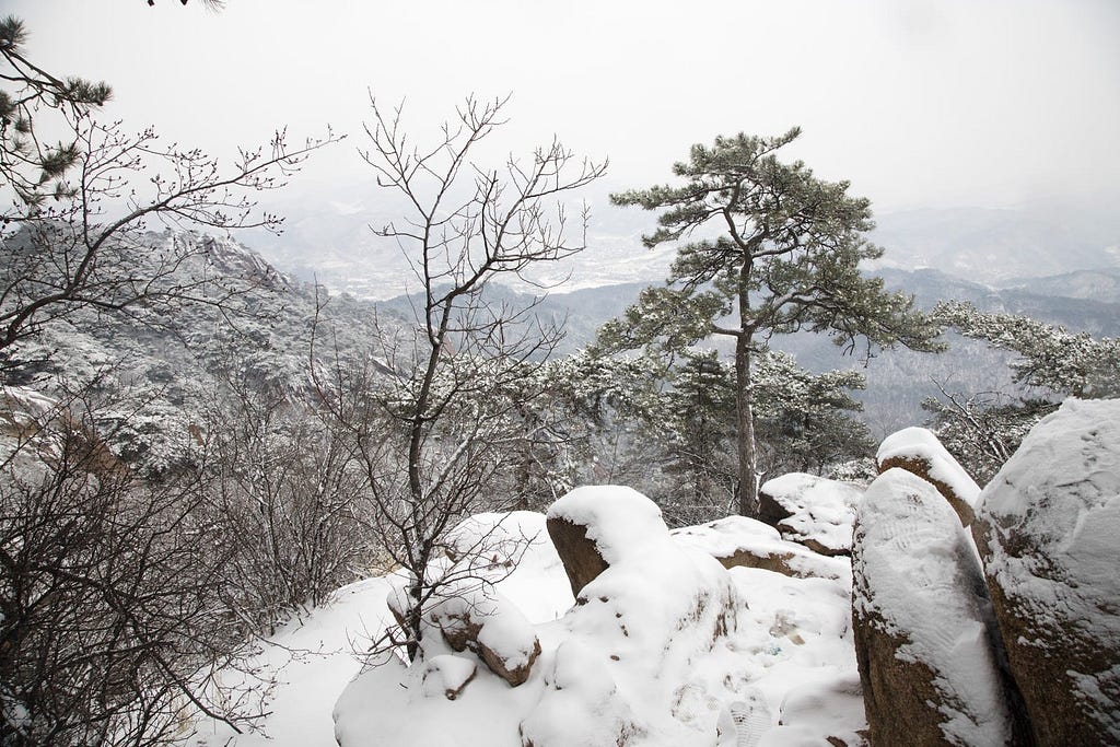
M 605 165 L 577 159 L 556 140 L 501 169 L 476 165 L 505 100 L 468 99 L 428 149 L 405 136 L 400 108 L 371 103 L 362 157 L 404 205 L 400 222 L 375 233 L 396 242 L 411 265 L 414 327 L 379 325 L 386 351 L 380 365 L 390 374 L 366 366 L 321 381 L 363 461 L 374 531 L 409 575 L 402 635 L 393 642 L 414 657 L 424 611 L 458 572 L 432 576 L 442 538 L 466 514 L 515 503 L 488 487 L 520 466 L 519 413 L 540 393 L 526 382 L 561 334 L 540 324 L 532 305 L 493 301 L 487 288 L 503 277 L 531 282 L 526 271 L 584 249 L 586 208 L 571 240 L 563 199 Z M 461 568 L 473 572 L 470 563 Z

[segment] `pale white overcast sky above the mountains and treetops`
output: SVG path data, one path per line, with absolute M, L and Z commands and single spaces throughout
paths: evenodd
M 356 165 L 366 91 L 418 136 L 468 93 L 503 133 L 664 181 L 693 142 L 800 124 L 793 155 L 877 212 L 1117 194 L 1117 0 L 0 0 L 45 68 L 105 80 L 113 116 L 215 155 L 329 123 L 296 188 Z M 430 130 L 429 130 L 430 131 Z M 320 193 L 324 187 L 318 187 Z

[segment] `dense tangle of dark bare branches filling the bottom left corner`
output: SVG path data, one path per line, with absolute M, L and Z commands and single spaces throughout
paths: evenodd
M 169 744 L 199 711 L 240 731 L 254 715 L 216 674 L 244 626 L 199 492 L 138 480 L 81 400 L 3 396 L 0 741 Z

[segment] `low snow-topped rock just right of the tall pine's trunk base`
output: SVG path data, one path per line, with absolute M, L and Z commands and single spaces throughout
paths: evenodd
M 864 491 L 851 483 L 790 473 L 767 480 L 758 491 L 760 517 L 824 555 L 851 552 L 851 526 Z

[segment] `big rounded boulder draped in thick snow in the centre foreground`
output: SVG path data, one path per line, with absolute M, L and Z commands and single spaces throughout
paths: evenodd
M 731 575 L 674 541 L 656 504 L 629 488 L 579 488 L 548 515 L 550 532 L 556 521 L 580 527 L 604 569 L 572 581 L 576 606 L 549 628 L 560 644 L 542 657 L 522 745 L 703 744 L 718 713 L 691 699 L 712 687 L 716 662 L 735 656 L 746 609 Z

